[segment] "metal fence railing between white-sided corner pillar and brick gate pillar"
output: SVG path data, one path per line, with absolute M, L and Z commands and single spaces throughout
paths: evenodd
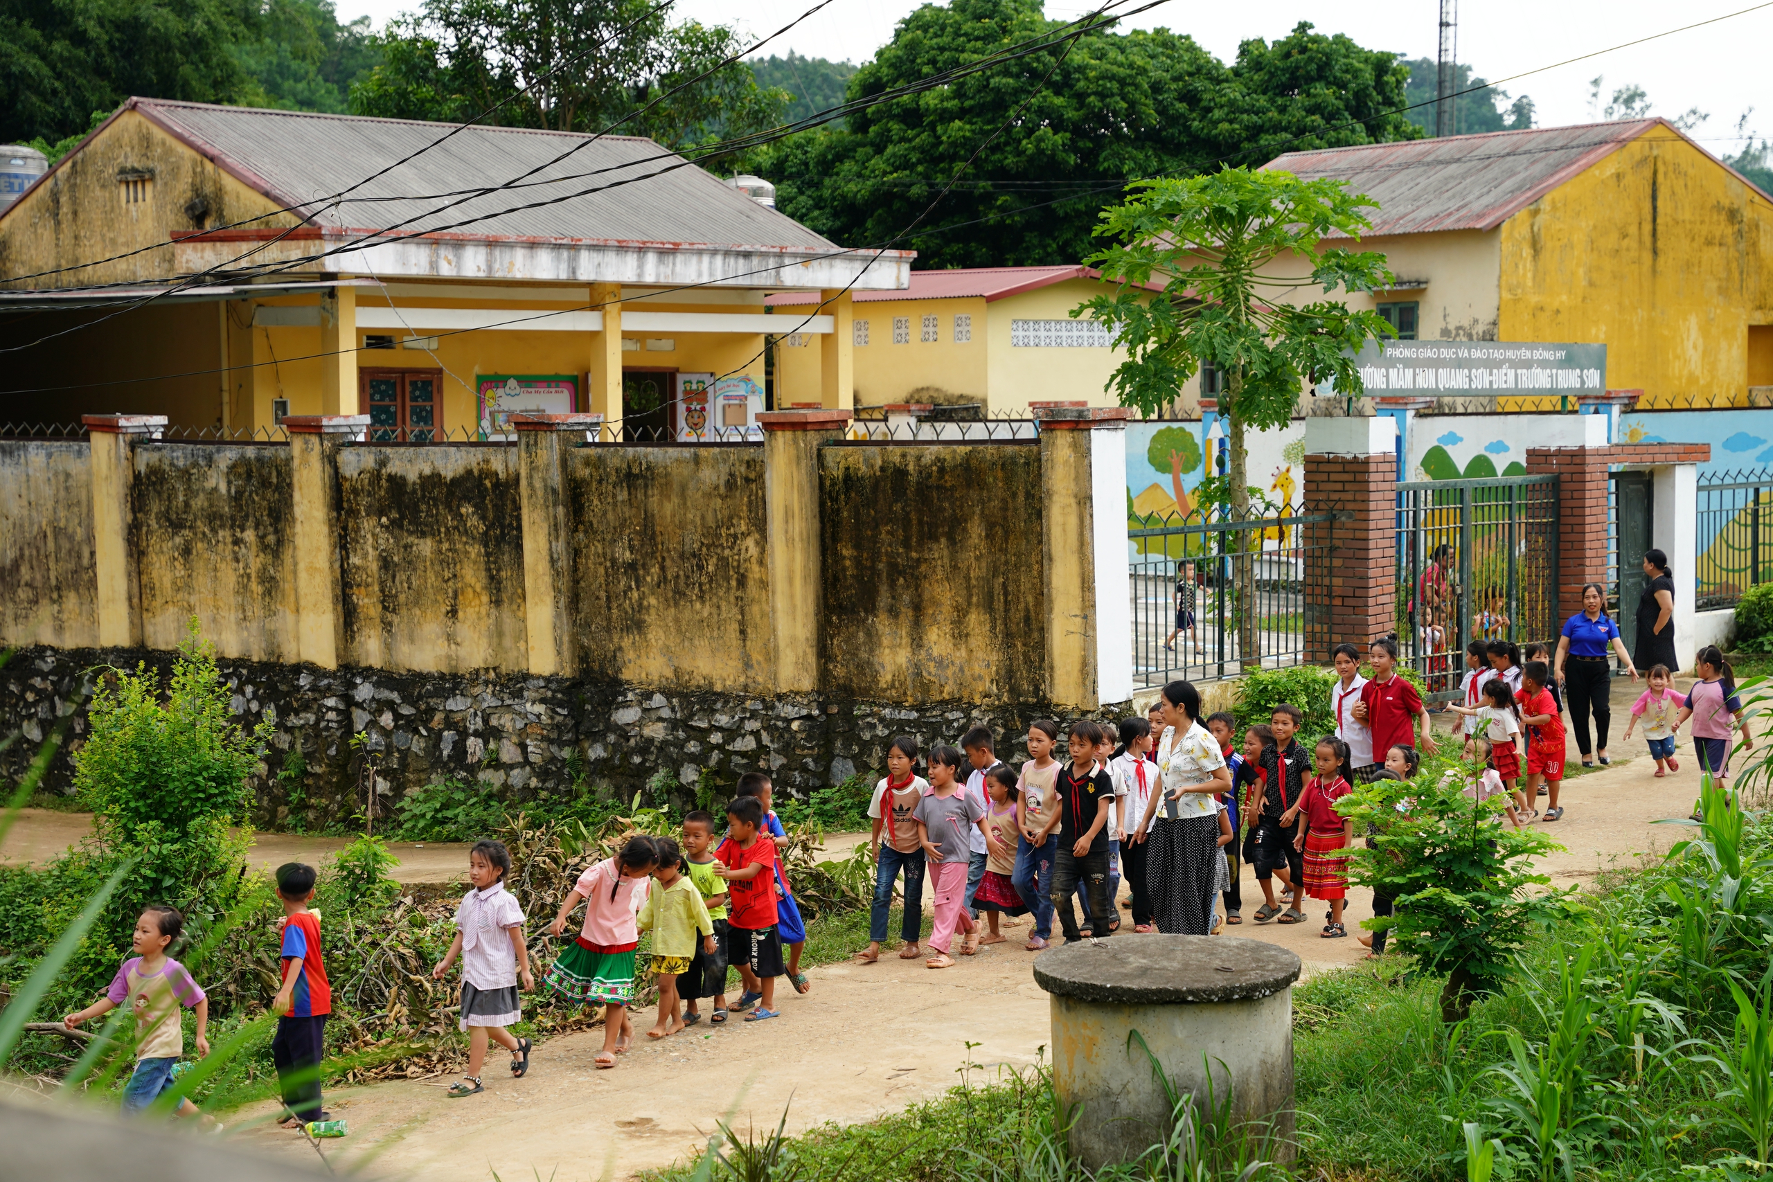
M 1307 585 L 1324 585 L 1330 512 L 1227 521 L 1215 509 L 1129 521 L 1133 679 L 1216 680 L 1301 665 Z

